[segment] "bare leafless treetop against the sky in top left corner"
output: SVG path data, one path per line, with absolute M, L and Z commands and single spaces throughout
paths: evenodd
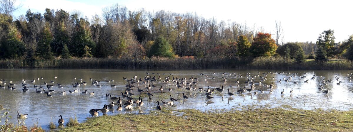
M 15 6 L 16 1 L 17 0 L 0 0 L 0 13 L 12 16 L 12 12 L 21 7 L 21 5 Z

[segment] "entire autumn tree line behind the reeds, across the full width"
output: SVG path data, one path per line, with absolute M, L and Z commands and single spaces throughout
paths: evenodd
M 71 57 L 285 56 L 300 63 L 306 58 L 353 59 L 353 37 L 335 43 L 333 30 L 322 32 L 316 43 L 280 45 L 281 27 L 277 21 L 276 27 L 280 28 L 276 41 L 255 26 L 206 19 L 196 13 L 148 12 L 143 8 L 130 11 L 118 4 L 102 11 L 102 15 L 88 18 L 79 11 L 46 8 L 43 14 L 28 10 L 16 20 L 11 12 L 0 12 L 0 57 L 34 61 Z

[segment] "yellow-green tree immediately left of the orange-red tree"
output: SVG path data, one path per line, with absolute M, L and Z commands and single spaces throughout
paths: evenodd
M 251 44 L 247 40 L 247 37 L 245 35 L 239 36 L 237 43 L 238 43 L 237 55 L 238 56 L 248 56 Z

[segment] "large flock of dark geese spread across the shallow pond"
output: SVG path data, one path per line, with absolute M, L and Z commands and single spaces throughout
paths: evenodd
M 152 73 L 155 74 L 155 73 Z M 156 73 L 157 75 L 159 75 L 158 73 Z M 166 75 L 164 73 L 162 73 L 163 75 Z M 216 74 L 216 73 L 212 73 L 212 74 Z M 267 73 L 260 73 L 258 72 L 257 74 L 250 74 L 249 72 L 246 73 L 244 76 L 242 74 L 236 74 L 236 73 L 221 73 L 222 74 L 222 78 L 215 78 L 212 77 L 210 78 L 211 80 L 219 80 L 219 82 L 223 82 L 224 85 L 227 84 L 227 76 L 235 76 L 235 78 L 237 78 L 237 81 L 235 82 L 231 82 L 232 84 L 235 84 L 235 88 L 239 87 L 239 85 L 243 85 L 244 87 L 239 87 L 240 89 L 237 89 L 236 93 L 242 94 L 244 92 L 249 92 L 249 93 L 253 93 L 253 94 L 259 94 L 259 93 L 264 93 L 267 92 L 269 94 L 271 94 L 273 92 L 275 83 L 274 80 L 275 78 L 272 77 L 271 83 L 270 84 L 263 84 L 263 82 L 265 80 L 267 80 L 267 75 L 269 74 L 286 74 L 287 77 L 283 77 L 280 80 L 277 80 L 275 82 L 277 83 L 282 83 L 282 82 L 286 82 L 286 83 L 290 83 L 292 82 L 293 84 L 298 84 L 298 81 L 303 81 L 304 83 L 308 83 L 310 80 L 315 80 L 317 78 L 321 78 L 319 81 L 322 83 L 319 87 L 318 90 L 322 90 L 324 94 L 328 94 L 329 93 L 329 89 L 324 89 L 324 86 L 327 85 L 328 83 L 331 83 L 333 81 L 336 81 L 337 85 L 340 85 L 342 83 L 342 78 L 341 78 L 341 74 L 336 73 L 336 77 L 335 80 L 325 80 L 322 76 L 316 76 L 313 75 L 312 77 L 307 77 L 306 73 L 302 73 L 301 75 L 299 75 L 298 73 L 285 73 L 285 72 L 267 72 Z M 205 75 L 203 73 L 199 74 L 200 76 L 203 76 L 201 79 L 200 77 L 194 77 L 193 75 L 190 78 L 178 78 L 178 77 L 174 77 L 173 74 L 169 74 L 168 76 L 165 76 L 163 78 L 161 78 L 160 76 L 156 77 L 156 76 L 150 76 L 149 73 L 146 73 L 146 75 L 144 77 L 137 77 L 137 76 L 133 76 L 130 77 L 130 79 L 128 79 L 127 77 L 123 77 L 123 79 L 126 81 L 125 83 L 125 92 L 121 92 L 121 96 L 112 96 L 111 94 L 107 94 L 105 95 L 106 98 L 109 98 L 111 100 L 111 103 L 106 104 L 103 106 L 103 108 L 95 108 L 95 109 L 90 109 L 89 114 L 92 115 L 93 117 L 97 117 L 98 116 L 98 112 L 103 113 L 103 115 L 107 115 L 107 112 L 109 112 L 109 109 L 115 109 L 114 107 L 116 107 L 116 111 L 118 111 L 119 113 L 121 113 L 121 111 L 123 109 L 125 109 L 128 112 L 131 112 L 134 108 L 134 104 L 136 104 L 135 107 L 141 108 L 144 105 L 143 102 L 143 98 L 142 98 L 142 94 L 146 94 L 148 96 L 147 100 L 152 100 L 152 96 L 154 96 L 153 94 L 158 94 L 156 91 L 160 91 L 163 92 L 165 90 L 167 90 L 168 92 L 172 92 L 173 89 L 179 89 L 178 91 L 192 91 L 192 92 L 199 92 L 199 93 L 204 93 L 204 96 L 206 98 L 206 100 L 211 100 L 214 98 L 214 93 L 215 92 L 219 92 L 219 93 L 223 93 L 223 91 L 225 90 L 225 88 L 227 88 L 227 94 L 229 95 L 229 97 L 234 96 L 236 93 L 233 93 L 232 88 L 234 88 L 232 85 L 229 86 L 224 86 L 224 85 L 220 85 L 219 87 L 197 87 L 197 84 L 199 83 L 199 81 L 204 81 L 204 82 L 208 82 L 208 76 L 209 75 Z M 295 78 L 296 77 L 296 78 Z M 349 81 L 352 81 L 352 77 L 353 74 L 349 73 L 347 74 L 347 78 L 349 79 Z M 57 77 L 54 77 L 54 80 Z M 244 82 L 239 82 L 239 78 L 247 78 L 247 81 Z M 256 82 L 256 78 L 259 78 L 258 82 Z M 292 79 L 296 79 L 295 81 L 292 81 Z M 73 78 L 74 80 L 76 80 L 76 77 Z M 63 86 L 59 83 L 54 83 L 53 80 L 50 80 L 50 83 L 44 82 L 43 86 L 40 84 L 39 86 L 36 86 L 35 83 L 36 79 L 30 80 L 31 83 L 33 83 L 33 88 L 35 88 L 36 93 L 46 93 L 47 96 L 52 97 L 53 95 L 50 94 L 51 92 L 55 92 L 55 90 L 53 90 L 52 88 L 58 87 L 58 88 L 63 88 Z M 37 78 L 37 80 L 43 80 L 43 78 Z M 79 82 L 72 84 L 72 88 L 75 88 L 74 90 L 69 90 L 70 93 L 79 93 L 80 91 L 77 89 L 78 87 L 82 86 L 82 85 L 87 85 L 88 83 L 83 81 L 82 78 L 79 78 Z M 26 80 L 22 80 L 22 90 L 23 92 L 27 93 L 29 91 L 29 87 L 27 87 L 26 84 Z M 109 80 L 105 80 L 104 82 L 114 82 L 113 79 L 109 79 Z M 155 82 L 155 83 L 154 83 Z M 155 86 L 155 84 L 159 82 L 158 84 L 161 84 L 161 86 Z M 6 86 L 7 81 L 6 80 L 0 80 L 0 87 L 5 88 L 7 87 L 8 89 L 16 89 L 14 86 L 16 86 L 16 84 L 14 84 L 12 81 L 9 81 L 8 85 Z M 92 79 L 90 78 L 90 83 L 94 86 L 100 87 L 101 81 L 96 80 L 96 79 Z M 145 85 L 144 88 L 139 88 L 138 86 L 136 86 L 136 84 L 138 86 L 141 85 Z M 255 89 L 255 85 L 258 85 L 258 89 Z M 261 88 L 262 86 L 262 88 Z M 43 88 L 45 87 L 45 88 Z M 116 87 L 115 85 L 110 84 L 110 87 Z M 247 88 L 249 87 L 249 88 Z M 165 89 L 165 90 L 164 90 Z M 263 90 L 261 90 L 263 89 Z M 266 91 L 265 91 L 266 90 Z M 94 92 L 87 92 L 87 90 L 84 90 L 84 92 L 80 92 L 82 94 L 90 94 L 90 95 L 94 95 Z M 293 88 L 291 88 L 291 90 L 289 91 L 289 94 L 293 93 Z M 63 90 L 61 92 L 61 94 L 66 94 L 65 90 Z M 133 95 L 138 94 L 137 96 L 138 99 L 134 100 L 134 98 L 132 98 Z M 281 95 L 285 94 L 285 89 L 282 90 Z M 163 105 L 166 105 L 167 107 L 172 107 L 174 105 L 174 101 L 179 101 L 179 99 L 175 99 L 172 97 L 172 95 L 169 95 L 170 101 L 164 102 L 162 99 L 157 99 L 158 101 L 156 102 L 156 110 L 161 112 L 161 110 L 163 109 Z M 187 95 L 185 95 L 183 93 L 183 97 L 184 100 L 187 100 L 189 97 Z M 125 99 L 125 100 L 124 100 Z M 160 102 L 161 101 L 161 102 Z M 19 114 L 19 112 L 17 112 L 17 118 L 18 119 L 25 119 L 27 118 L 28 114 Z M 63 125 L 64 124 L 64 119 L 62 118 L 62 116 L 59 116 L 60 119 L 58 120 L 59 125 Z

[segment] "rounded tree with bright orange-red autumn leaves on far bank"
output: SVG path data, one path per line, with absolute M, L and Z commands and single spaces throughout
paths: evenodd
M 277 49 L 275 40 L 271 38 L 271 34 L 259 32 L 254 38 L 251 45 L 253 56 L 273 56 Z

